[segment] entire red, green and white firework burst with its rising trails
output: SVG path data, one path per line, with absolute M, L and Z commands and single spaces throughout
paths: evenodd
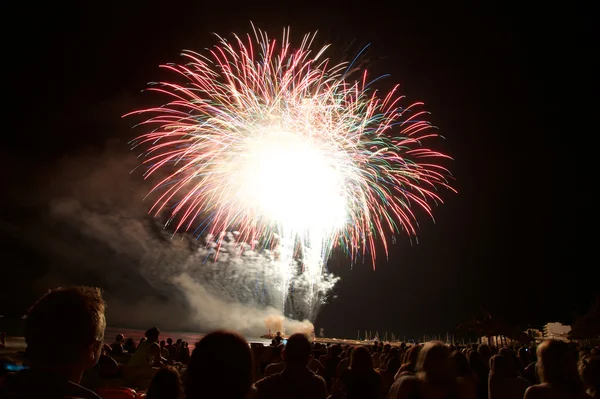
M 327 47 L 311 48 L 315 34 L 297 48 L 289 29 L 217 37 L 163 65 L 184 82 L 152 84 L 166 104 L 128 114 L 149 115 L 134 147 L 145 176 L 160 176 L 151 212 L 168 212 L 176 231 L 235 231 L 274 251 L 284 307 L 299 260 L 314 307 L 335 246 L 374 265 L 377 237 L 387 254 L 385 233 L 416 235 L 413 208 L 431 215 L 437 189 L 452 190 L 436 163 L 448 157 L 424 147 L 438 134 L 421 103 L 402 107 L 398 86 L 380 95 L 366 71 L 333 65 Z

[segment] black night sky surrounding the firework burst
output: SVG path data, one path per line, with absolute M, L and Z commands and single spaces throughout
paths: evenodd
M 246 32 L 250 20 L 274 36 L 287 25 L 297 35 L 319 30 L 323 43 L 353 52 L 371 43 L 374 73 L 392 74 L 383 87 L 399 82 L 409 100 L 424 101 L 447 139 L 441 149 L 455 158 L 459 194 L 444 195 L 435 224 L 421 218 L 418 245 L 399 236 L 375 271 L 334 257 L 330 270 L 342 281 L 317 328 L 410 335 L 452 330 L 480 307 L 520 325 L 585 312 L 598 292 L 594 261 L 580 248 L 589 240 L 578 238 L 589 201 L 578 186 L 579 147 L 592 146 L 597 129 L 586 122 L 594 113 L 576 112 L 597 97 L 590 14 L 516 2 L 286 3 L 24 4 L 5 15 L 14 27 L 3 48 L 10 105 L 0 177 L 10 194 L 0 312 L 20 312 L 44 288 L 34 281 L 64 273 L 60 259 L 22 238 L 53 231 L 44 201 L 22 198 L 51 198 L 52 187 L 68 185 L 68 174 L 52 172 L 56 184 L 44 177 L 65 157 L 85 159 L 115 139 L 126 150 L 135 134 L 120 116 L 149 101 L 140 90 L 162 76 L 158 64 L 213 44 L 211 32 Z

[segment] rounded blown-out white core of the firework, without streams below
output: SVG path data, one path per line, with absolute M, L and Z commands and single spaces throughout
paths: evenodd
M 297 134 L 251 136 L 240 196 L 268 221 L 303 234 L 344 226 L 347 204 L 334 158 Z

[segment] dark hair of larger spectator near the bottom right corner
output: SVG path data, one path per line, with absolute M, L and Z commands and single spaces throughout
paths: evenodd
M 582 393 L 583 382 L 577 371 L 577 361 L 569 345 L 555 339 L 542 342 L 537 349 L 538 375 L 559 391 Z

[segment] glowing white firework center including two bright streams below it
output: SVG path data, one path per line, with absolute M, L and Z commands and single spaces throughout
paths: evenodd
M 309 295 L 320 280 L 337 229 L 347 223 L 344 179 L 334 157 L 319 148 L 315 139 L 283 131 L 278 126 L 263 129 L 246 139 L 238 173 L 238 200 L 266 224 L 277 226 L 281 235 L 278 251 L 282 269 L 293 266 L 294 248 L 300 244 Z M 282 272 L 285 307 L 291 270 Z M 288 276 L 287 278 L 285 276 Z

